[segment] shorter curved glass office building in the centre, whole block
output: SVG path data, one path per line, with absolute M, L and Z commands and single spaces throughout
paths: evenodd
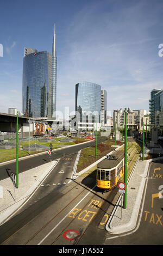
M 81 82 L 76 84 L 76 129 L 79 131 L 98 130 L 105 122 L 106 99 L 105 90 L 99 84 Z

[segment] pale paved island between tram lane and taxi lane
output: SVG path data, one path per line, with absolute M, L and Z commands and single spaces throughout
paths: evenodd
M 121 208 L 120 196 L 108 222 L 105 225 L 106 231 L 108 231 L 110 234 L 122 234 L 133 230 L 136 227 L 140 204 L 143 197 L 143 190 L 145 188 L 145 182 L 147 179 L 149 163 L 151 161 L 159 159 L 163 159 L 163 157 L 158 157 L 145 161 L 141 160 L 137 162 L 135 169 L 133 169 L 133 171 L 131 172 L 127 182 L 127 208 Z M 106 239 L 105 242 L 108 239 Z

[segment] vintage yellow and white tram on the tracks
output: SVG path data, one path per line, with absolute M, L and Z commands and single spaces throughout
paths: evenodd
M 124 174 L 124 151 L 118 150 L 112 155 L 107 155 L 97 164 L 96 186 L 103 190 L 111 190 Z

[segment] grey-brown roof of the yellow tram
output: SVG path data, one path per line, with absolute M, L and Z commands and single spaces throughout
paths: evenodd
M 114 154 L 111 154 L 110 156 L 115 156 L 115 159 L 103 159 L 101 162 L 97 164 L 97 168 L 101 169 L 112 169 L 118 165 L 118 163 L 121 162 L 121 160 L 124 158 L 124 151 L 118 150 Z

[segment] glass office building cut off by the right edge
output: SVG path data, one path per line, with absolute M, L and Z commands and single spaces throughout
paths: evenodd
M 163 131 L 163 89 L 153 89 L 149 100 L 151 128 Z

